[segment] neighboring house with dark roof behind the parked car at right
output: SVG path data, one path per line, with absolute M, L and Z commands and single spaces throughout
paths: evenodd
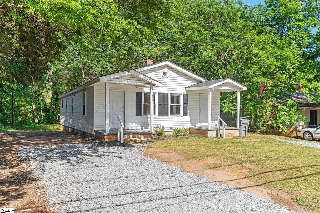
M 301 107 L 300 114 L 306 117 L 306 120 L 298 121 L 296 124 L 288 127 L 288 131 L 285 133 L 285 135 L 292 137 L 297 136 L 297 132 L 300 129 L 320 125 L 320 104 L 316 104 L 309 99 L 305 93 L 300 92 L 299 89 L 301 87 L 302 84 L 296 84 L 296 91 L 294 91 L 293 94 L 285 91 L 285 96 L 293 99 Z M 320 94 L 311 92 L 310 95 L 316 96 Z M 281 132 L 278 132 L 278 134 L 283 135 Z

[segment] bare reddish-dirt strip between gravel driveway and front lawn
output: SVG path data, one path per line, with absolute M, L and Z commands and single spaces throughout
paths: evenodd
M 221 167 L 219 166 L 221 162 L 214 158 L 188 160 L 185 155 L 172 152 L 169 149 L 148 148 L 144 152 L 144 155 L 170 165 L 178 166 L 186 172 L 231 185 L 264 199 L 273 200 L 289 209 L 299 212 L 309 212 L 296 204 L 289 194 L 272 187 L 260 185 L 249 179 L 248 171 L 238 164 Z

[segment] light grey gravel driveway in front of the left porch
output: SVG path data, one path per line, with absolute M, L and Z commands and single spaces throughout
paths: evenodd
M 143 146 L 21 147 L 54 212 L 293 212 L 144 157 Z

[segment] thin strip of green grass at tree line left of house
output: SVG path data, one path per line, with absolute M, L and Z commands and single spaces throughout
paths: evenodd
M 54 131 L 59 130 L 59 124 L 34 124 L 13 127 L 4 127 L 0 125 L 0 132 L 16 132 L 16 131 Z

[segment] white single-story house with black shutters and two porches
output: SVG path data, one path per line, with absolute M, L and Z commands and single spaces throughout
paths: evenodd
M 134 138 L 143 139 L 141 134 L 149 138 L 156 126 L 165 131 L 187 127 L 196 135 L 215 136 L 220 92 L 237 91 L 239 127 L 243 90 L 246 87 L 232 79 L 207 81 L 170 61 L 146 60 L 144 67 L 102 76 L 60 95 L 60 125 L 103 135 L 105 140 L 116 139 L 118 120 L 124 124 L 124 134 L 137 135 Z M 227 129 L 227 136 L 238 135 L 238 128 Z

